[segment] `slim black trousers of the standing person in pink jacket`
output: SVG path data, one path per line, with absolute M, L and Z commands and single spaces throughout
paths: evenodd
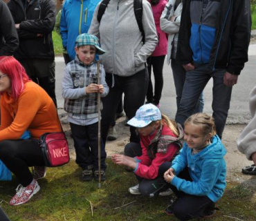
M 165 55 L 158 57 L 149 57 L 147 59 L 147 70 L 149 71 L 149 86 L 147 88 L 147 102 L 159 104 L 162 90 L 163 90 L 163 64 L 165 62 Z M 152 68 L 154 72 L 154 93 L 153 84 L 151 80 Z

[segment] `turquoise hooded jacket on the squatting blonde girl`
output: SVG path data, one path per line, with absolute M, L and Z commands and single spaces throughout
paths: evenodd
M 212 144 L 201 152 L 192 155 L 192 149 L 185 143 L 180 155 L 175 157 L 172 168 L 178 175 L 186 166 L 193 182 L 174 177 L 171 184 L 179 191 L 190 195 L 207 195 L 216 202 L 226 188 L 226 148 L 217 135 L 212 137 Z

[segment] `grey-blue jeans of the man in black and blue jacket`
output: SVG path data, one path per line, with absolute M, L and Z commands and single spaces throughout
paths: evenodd
M 212 70 L 208 64 L 194 65 L 195 69 L 186 74 L 181 103 L 176 113 L 176 122 L 184 126 L 185 120 L 193 114 L 196 102 L 212 77 L 212 117 L 214 117 L 217 135 L 221 138 L 228 117 L 232 93 L 232 87 L 223 84 L 226 69 Z

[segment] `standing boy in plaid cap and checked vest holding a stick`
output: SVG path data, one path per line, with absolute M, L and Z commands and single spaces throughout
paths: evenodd
M 68 113 L 73 135 L 76 160 L 82 168 L 82 180 L 99 178 L 98 171 L 98 110 L 97 93 L 107 96 L 109 87 L 105 81 L 103 65 L 100 64 L 100 84 L 97 84 L 97 61 L 95 54 L 102 55 L 98 38 L 79 35 L 75 41 L 76 57 L 66 65 L 62 79 L 64 110 Z M 102 104 L 100 105 L 102 109 Z M 101 180 L 106 180 L 106 151 L 101 141 Z

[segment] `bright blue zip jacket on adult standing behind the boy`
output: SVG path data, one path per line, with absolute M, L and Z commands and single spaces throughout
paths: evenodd
M 71 60 L 75 59 L 75 39 L 82 33 L 87 33 L 93 18 L 93 13 L 101 0 L 66 0 L 60 19 L 60 35 L 62 45 L 68 51 Z

